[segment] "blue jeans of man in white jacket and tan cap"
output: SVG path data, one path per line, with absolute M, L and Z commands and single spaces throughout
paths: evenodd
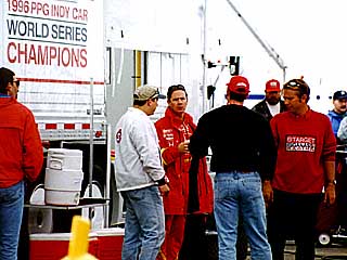
M 121 260 L 155 260 L 165 238 L 163 199 L 156 185 L 121 192 L 126 226 Z

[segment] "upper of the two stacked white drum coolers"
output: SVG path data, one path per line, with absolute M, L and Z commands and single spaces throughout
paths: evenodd
M 47 168 L 55 170 L 81 170 L 82 151 L 67 148 L 49 148 Z

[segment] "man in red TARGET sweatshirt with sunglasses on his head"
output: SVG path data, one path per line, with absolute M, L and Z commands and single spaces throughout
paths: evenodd
M 310 89 L 303 79 L 283 86 L 286 112 L 270 123 L 278 147 L 271 183 L 264 184 L 268 237 L 273 260 L 284 259 L 286 238 L 294 237 L 296 260 L 314 259 L 314 224 L 322 199 L 335 202 L 336 140 L 329 118 L 312 110 Z

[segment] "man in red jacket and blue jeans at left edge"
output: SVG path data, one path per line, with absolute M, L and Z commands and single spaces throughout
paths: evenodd
M 0 68 L 0 259 L 17 259 L 24 179 L 40 173 L 43 152 L 33 113 L 20 104 L 14 73 Z

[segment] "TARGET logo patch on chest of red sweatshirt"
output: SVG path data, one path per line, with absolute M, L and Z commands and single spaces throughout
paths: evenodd
M 312 136 L 305 135 L 286 135 L 285 151 L 286 152 L 309 152 L 314 153 L 317 140 Z

